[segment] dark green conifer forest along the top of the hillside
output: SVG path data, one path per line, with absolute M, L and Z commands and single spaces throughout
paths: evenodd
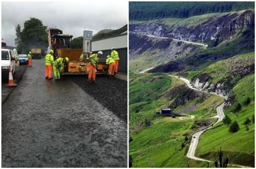
M 187 18 L 254 8 L 254 2 L 130 2 L 130 20 Z

